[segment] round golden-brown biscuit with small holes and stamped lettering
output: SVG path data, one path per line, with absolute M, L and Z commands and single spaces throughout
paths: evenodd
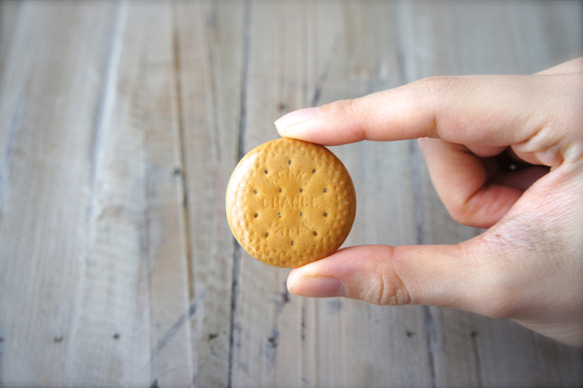
M 350 232 L 356 194 L 327 148 L 277 139 L 251 150 L 229 181 L 227 219 L 253 257 L 299 267 L 336 251 Z

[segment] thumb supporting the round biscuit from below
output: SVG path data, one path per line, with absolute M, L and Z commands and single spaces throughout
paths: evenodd
M 343 296 L 379 305 L 448 306 L 500 317 L 498 279 L 492 261 L 473 255 L 476 237 L 456 245 L 363 245 L 294 269 L 292 294 Z M 483 252 L 485 253 L 485 252 Z M 479 257 L 479 259 L 477 259 Z M 489 276 L 489 274 L 491 276 Z

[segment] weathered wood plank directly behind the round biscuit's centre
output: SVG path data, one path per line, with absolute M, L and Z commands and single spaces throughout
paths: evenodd
M 293 109 L 306 104 L 301 94 L 304 77 L 297 74 L 305 71 L 302 59 L 307 36 L 300 18 L 308 12 L 307 7 L 289 1 L 248 5 L 243 152 L 277 137 L 272 123 L 283 110 L 280 107 Z M 286 36 L 296 38 L 285 39 Z M 289 303 L 287 271 L 267 267 L 245 252 L 239 268 L 232 384 L 301 384 L 301 369 L 306 367 L 300 356 L 302 318 L 298 308 Z M 288 330 L 280 327 L 283 322 Z

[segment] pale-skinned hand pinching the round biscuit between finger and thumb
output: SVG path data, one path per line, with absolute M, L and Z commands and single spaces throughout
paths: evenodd
M 534 75 L 427 78 L 276 127 L 325 145 L 419 139 L 452 217 L 488 228 L 453 245 L 342 249 L 294 269 L 290 292 L 448 306 L 583 347 L 583 57 Z

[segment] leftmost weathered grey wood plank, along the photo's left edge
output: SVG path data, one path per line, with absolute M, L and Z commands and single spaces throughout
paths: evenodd
M 82 290 L 95 265 L 88 228 L 93 134 L 118 9 L 22 7 L 0 83 L 0 380 L 60 385 L 73 373 L 76 329 L 89 302 Z M 86 350 L 93 345 L 125 367 L 126 348 L 112 338 L 117 330 L 105 327 Z M 98 372 L 116 378 L 107 368 Z

